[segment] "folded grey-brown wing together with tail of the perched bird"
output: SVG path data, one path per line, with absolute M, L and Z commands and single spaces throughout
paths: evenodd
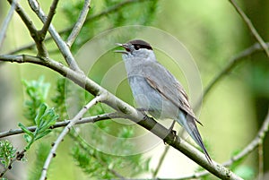
M 143 64 L 141 73 L 143 73 L 143 77 L 154 90 L 158 90 L 163 98 L 169 99 L 174 105 L 184 112 L 185 117 L 183 118 L 186 118 L 186 120 L 182 121 L 183 127 L 202 148 L 202 150 L 204 150 L 206 159 L 212 163 L 212 160 L 204 147 L 202 137 L 198 132 L 195 121 L 199 124 L 201 123 L 195 117 L 195 114 L 188 102 L 187 93 L 182 88 L 181 84 L 159 63 Z

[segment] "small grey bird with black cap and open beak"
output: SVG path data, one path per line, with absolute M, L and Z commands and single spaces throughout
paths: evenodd
M 195 122 L 201 123 L 190 107 L 187 93 L 178 80 L 157 62 L 151 45 L 140 39 L 117 45 L 125 48 L 116 52 L 122 53 L 137 105 L 157 119 L 176 120 L 204 150 L 206 159 L 212 162 L 196 127 Z

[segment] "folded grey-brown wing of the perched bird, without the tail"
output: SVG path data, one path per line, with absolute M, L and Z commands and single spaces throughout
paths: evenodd
M 169 99 L 179 109 L 184 111 L 187 115 L 192 116 L 197 123 L 201 124 L 195 117 L 188 102 L 186 91 L 165 67 L 159 63 L 144 64 L 143 71 L 141 72 L 145 80 L 154 90 L 158 90 L 165 99 Z

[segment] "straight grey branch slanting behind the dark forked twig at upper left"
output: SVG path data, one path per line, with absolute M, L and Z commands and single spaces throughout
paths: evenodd
M 42 11 L 41 7 L 39 6 L 39 3 L 36 0 L 28 0 L 31 9 L 36 13 L 39 17 L 39 19 L 45 23 L 47 20 L 47 17 L 45 13 Z M 66 63 L 70 66 L 71 69 L 73 69 L 76 72 L 82 73 L 81 69 L 79 68 L 78 64 L 75 62 L 74 56 L 72 55 L 69 47 L 65 44 L 65 41 L 60 37 L 56 29 L 52 24 L 49 25 L 48 31 L 56 42 L 56 46 L 59 48 L 60 52 L 65 58 Z

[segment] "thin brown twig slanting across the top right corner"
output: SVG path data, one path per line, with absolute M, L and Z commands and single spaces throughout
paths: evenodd
M 265 41 L 261 38 L 261 36 L 259 35 L 259 33 L 256 31 L 254 25 L 249 20 L 249 18 L 247 17 L 246 13 L 244 13 L 241 10 L 241 8 L 239 7 L 239 5 L 234 0 L 230 0 L 230 4 L 232 4 L 234 6 L 234 8 L 239 13 L 239 15 L 246 22 L 247 28 L 251 31 L 251 33 L 253 34 L 253 36 L 255 37 L 255 39 L 258 41 L 258 43 L 264 48 L 266 56 L 269 57 L 269 50 L 268 50 L 268 47 L 265 44 Z

